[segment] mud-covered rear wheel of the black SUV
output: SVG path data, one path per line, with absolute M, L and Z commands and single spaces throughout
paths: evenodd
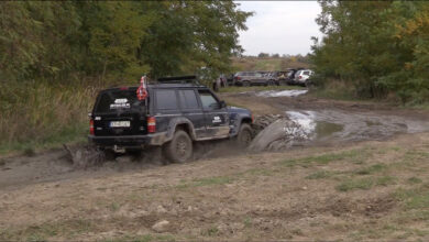
M 178 130 L 173 140 L 163 146 L 164 156 L 173 163 L 184 163 L 193 157 L 193 141 L 189 135 Z

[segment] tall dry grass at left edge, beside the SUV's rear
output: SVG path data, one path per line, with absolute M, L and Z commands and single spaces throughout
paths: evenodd
M 81 84 L 1 84 L 0 153 L 85 140 L 97 90 Z

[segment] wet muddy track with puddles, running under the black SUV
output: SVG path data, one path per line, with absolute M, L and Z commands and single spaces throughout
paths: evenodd
M 283 97 L 285 91 L 244 92 L 227 95 L 250 109 L 267 105 L 277 109 L 276 114 L 255 113 L 255 139 L 249 151 L 239 151 L 231 141 L 196 144 L 193 162 L 219 156 L 234 156 L 243 152 L 283 151 L 302 145 L 329 145 L 330 143 L 384 140 L 400 133 L 429 130 L 427 113 L 402 113 L 377 107 L 360 107 L 350 103 L 324 103 L 320 100 Z M 302 91 L 305 94 L 305 91 Z M 288 92 L 287 95 L 288 96 Z M 47 151 L 33 157 L 2 158 L 0 188 L 13 189 L 25 184 L 97 177 L 112 173 L 135 172 L 166 165 L 160 148 L 142 153 L 118 155 L 109 160 L 92 146 L 67 146 Z

